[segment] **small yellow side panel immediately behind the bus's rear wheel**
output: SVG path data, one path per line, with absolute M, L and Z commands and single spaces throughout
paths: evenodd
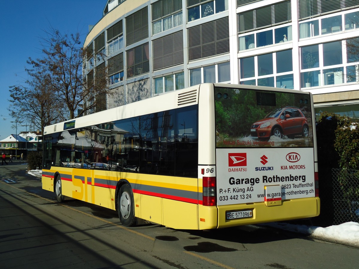
M 141 216 L 144 220 L 162 224 L 162 198 L 141 194 Z M 136 209 L 135 209 L 136 212 Z

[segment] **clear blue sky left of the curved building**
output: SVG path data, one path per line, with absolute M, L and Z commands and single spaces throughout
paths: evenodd
M 29 57 L 41 58 L 40 37 L 50 28 L 62 34 L 81 34 L 101 18 L 106 0 L 0 0 L 0 140 L 15 134 L 9 116 L 9 86 L 24 84 Z M 28 66 L 27 66 L 28 67 Z M 21 118 L 21 117 L 20 117 Z M 18 123 L 17 132 L 26 127 Z M 29 123 L 28 123 L 29 124 Z M 29 131 L 29 127 L 27 127 Z

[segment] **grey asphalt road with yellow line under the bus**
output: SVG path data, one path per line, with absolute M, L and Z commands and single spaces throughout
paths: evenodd
M 57 203 L 26 167 L 0 166 L 1 268 L 358 268 L 356 248 L 264 227 L 127 228 L 115 211 Z

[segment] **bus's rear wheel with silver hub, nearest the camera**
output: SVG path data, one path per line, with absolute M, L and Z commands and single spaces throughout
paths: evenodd
M 117 212 L 122 225 L 134 226 L 136 221 L 134 199 L 128 184 L 123 184 L 117 194 Z

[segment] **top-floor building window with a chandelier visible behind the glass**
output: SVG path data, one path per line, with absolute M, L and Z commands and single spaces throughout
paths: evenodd
M 198 3 L 199 1 L 197 1 Z M 202 1 L 204 2 L 204 1 Z M 191 5 L 187 0 L 187 7 Z M 197 4 L 187 9 L 188 11 L 188 22 L 204 18 L 222 11 L 228 10 L 228 0 L 214 0 L 207 1 L 206 3 Z

